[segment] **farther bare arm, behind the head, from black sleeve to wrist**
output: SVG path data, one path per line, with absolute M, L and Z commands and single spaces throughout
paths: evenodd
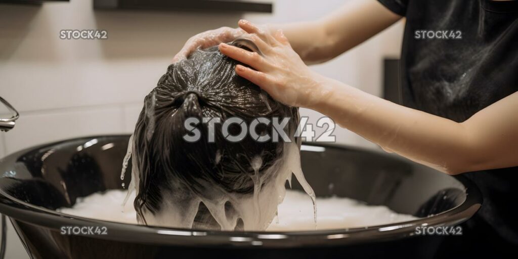
M 346 52 L 401 19 L 376 0 L 350 1 L 322 19 L 270 25 L 280 28 L 307 64 Z

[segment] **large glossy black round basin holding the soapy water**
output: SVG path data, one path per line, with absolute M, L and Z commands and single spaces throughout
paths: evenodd
M 148 227 L 56 212 L 73 206 L 78 197 L 122 188 L 120 169 L 128 137 L 65 140 L 0 161 L 0 212 L 10 218 L 34 258 L 404 257 L 400 251 L 426 257 L 440 237 L 416 236 L 416 226 L 453 226 L 481 205 L 478 189 L 465 178 L 381 152 L 305 145 L 302 165 L 317 196 L 350 197 L 423 218 L 365 228 L 272 233 Z M 293 187 L 301 189 L 296 182 Z M 93 233 L 63 234 L 67 226 L 94 228 Z

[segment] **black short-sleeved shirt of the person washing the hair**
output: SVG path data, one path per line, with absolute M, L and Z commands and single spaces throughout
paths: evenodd
M 518 1 L 379 2 L 407 20 L 401 52 L 405 106 L 463 122 L 518 91 Z M 513 119 L 518 116 L 502 118 Z M 464 239 L 473 251 L 518 248 L 518 167 L 463 175 L 484 199 L 466 223 L 472 229 Z

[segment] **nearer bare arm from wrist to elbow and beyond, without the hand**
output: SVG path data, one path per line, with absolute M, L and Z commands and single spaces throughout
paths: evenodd
M 485 112 L 488 116 L 476 114 L 465 123 L 457 123 L 391 103 L 335 80 L 322 79 L 321 83 L 325 84 L 324 90 L 319 90 L 321 102 L 309 108 L 326 114 L 386 151 L 448 174 L 517 164 L 509 152 L 516 152 L 513 132 L 518 123 L 498 125 L 486 119 L 498 118 L 489 113 L 501 116 L 503 110 L 512 110 L 509 105 L 500 105 L 505 106 L 500 112 L 492 107 Z M 507 138 L 500 137 L 504 133 Z

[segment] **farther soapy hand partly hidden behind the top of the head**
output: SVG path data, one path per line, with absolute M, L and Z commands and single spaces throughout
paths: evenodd
M 197 48 L 208 48 L 216 46 L 221 42 L 230 42 L 237 37 L 245 34 L 241 28 L 221 27 L 215 30 L 206 31 L 203 33 L 192 36 L 183 48 L 175 55 L 172 59 L 172 63 L 176 63 L 180 60 L 186 59 L 191 52 Z

